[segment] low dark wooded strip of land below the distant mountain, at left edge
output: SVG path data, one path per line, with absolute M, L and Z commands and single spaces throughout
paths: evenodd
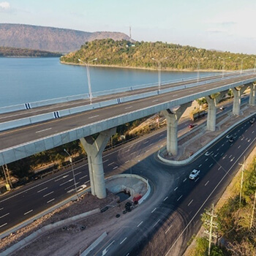
M 61 53 L 0 46 L 0 57 L 60 57 Z

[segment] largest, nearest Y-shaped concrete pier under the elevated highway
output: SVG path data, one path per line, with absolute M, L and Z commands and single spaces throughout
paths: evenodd
M 80 138 L 80 142 L 88 157 L 89 176 L 91 182 L 91 194 L 99 199 L 107 196 L 105 177 L 102 164 L 102 152 L 107 146 L 108 140 L 116 133 L 116 127 L 100 132 L 97 138 L 89 136 Z

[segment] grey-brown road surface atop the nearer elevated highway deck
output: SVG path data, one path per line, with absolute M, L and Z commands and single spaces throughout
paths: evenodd
M 162 104 L 163 102 L 170 102 L 171 99 L 187 97 L 188 95 L 197 94 L 200 91 L 219 88 L 219 86 L 237 82 L 238 80 L 244 80 L 244 78 L 254 77 L 255 75 L 245 75 L 243 78 L 238 77 L 223 81 L 220 80 L 215 83 L 197 86 L 196 88 L 173 91 L 154 97 L 148 97 L 145 99 L 138 99 L 119 105 L 113 105 L 107 108 L 89 110 L 72 116 L 54 119 L 52 121 L 45 121 L 26 127 L 10 129 L 4 132 L 0 132 L 0 151 L 4 150 L 5 148 L 11 148 L 23 143 L 28 143 L 29 141 L 40 140 L 50 135 L 65 132 L 69 129 L 77 129 L 78 127 L 94 124 L 105 119 L 115 118 L 116 116 L 121 116 L 125 113 L 131 113 L 144 108 L 151 108 L 152 106 Z

